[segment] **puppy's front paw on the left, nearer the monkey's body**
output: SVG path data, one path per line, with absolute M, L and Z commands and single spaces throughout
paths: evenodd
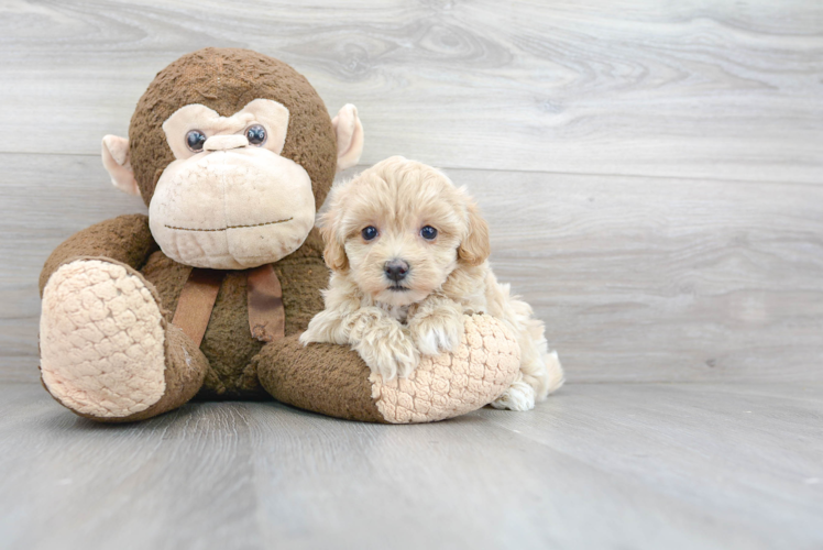
M 361 340 L 354 349 L 369 369 L 383 380 L 408 377 L 420 360 L 414 342 L 399 328 L 380 332 Z

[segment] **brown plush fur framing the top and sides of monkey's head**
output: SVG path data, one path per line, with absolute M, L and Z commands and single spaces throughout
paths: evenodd
M 173 62 L 157 73 L 138 101 L 129 139 L 131 165 L 145 204 L 174 161 L 161 129 L 168 117 L 190 103 L 230 117 L 253 99 L 272 99 L 288 109 L 288 135 L 281 156 L 308 172 L 315 204 L 322 205 L 334 179 L 337 141 L 320 97 L 303 75 L 283 62 L 250 50 L 215 47 Z

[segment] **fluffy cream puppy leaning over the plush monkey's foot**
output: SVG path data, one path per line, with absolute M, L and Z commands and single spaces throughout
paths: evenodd
M 372 372 L 412 374 L 420 354 L 452 352 L 463 315 L 489 314 L 517 334 L 520 373 L 494 405 L 528 410 L 559 388 L 563 371 L 542 321 L 497 283 L 489 228 L 462 188 L 402 156 L 336 185 L 319 217 L 332 271 L 326 309 L 300 342 L 350 344 Z

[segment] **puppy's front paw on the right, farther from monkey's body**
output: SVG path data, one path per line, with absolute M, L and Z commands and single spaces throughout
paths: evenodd
M 460 304 L 431 295 L 409 311 L 408 331 L 424 355 L 454 352 L 464 331 L 463 319 Z

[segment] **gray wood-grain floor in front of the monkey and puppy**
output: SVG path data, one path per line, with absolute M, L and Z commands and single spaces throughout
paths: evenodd
M 821 403 L 590 384 L 424 426 L 274 402 L 101 426 L 4 386 L 0 547 L 820 548 Z

